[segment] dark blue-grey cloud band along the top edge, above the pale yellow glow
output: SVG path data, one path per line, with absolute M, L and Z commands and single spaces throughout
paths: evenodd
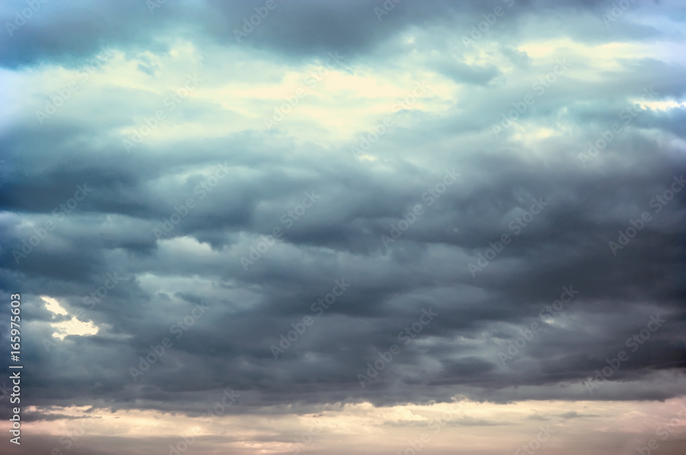
M 383 10 L 383 1 L 275 0 L 274 5 L 239 43 L 234 30 L 242 30 L 244 19 L 257 14 L 255 8 L 265 8 L 265 1 L 165 2 L 152 9 L 137 0 L 90 0 L 73 7 L 47 2 L 19 29 L 12 29 L 12 36 L 9 29 L 6 31 L 7 36 L 0 45 L 3 56 L 0 63 L 9 68 L 49 61 L 78 64 L 82 58 L 95 56 L 103 45 L 130 51 L 145 48 L 164 52 L 169 50 L 165 38 L 198 34 L 222 45 L 271 49 L 296 58 L 331 49 L 362 56 L 408 27 L 430 26 L 439 31 L 460 27 L 464 34 L 469 34 L 472 25 L 484 21 L 482 15 L 493 14 L 497 7 L 503 8 L 504 13 L 487 33 L 509 36 L 510 40 L 520 40 L 525 35 L 561 34 L 575 40 L 598 42 L 613 38 L 651 39 L 668 33 L 624 20 L 606 27 L 602 14 L 611 10 L 612 5 L 586 0 L 403 1 L 385 15 L 375 12 L 375 8 Z M 21 15 L 25 8 L 26 3 L 21 0 L 5 2 L 2 22 L 14 24 L 16 12 Z M 683 15 L 683 5 L 674 1 L 632 5 L 632 9 L 637 10 L 635 14 L 663 12 L 676 22 Z

